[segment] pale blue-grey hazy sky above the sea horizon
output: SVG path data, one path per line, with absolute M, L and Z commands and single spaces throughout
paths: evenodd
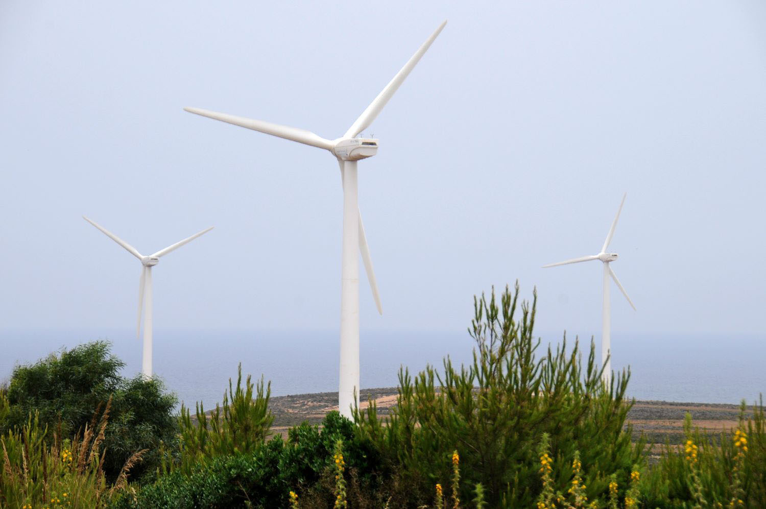
M 519 279 L 538 329 L 766 331 L 762 2 L 0 2 L 0 328 L 336 329 L 326 151 L 193 116 L 342 135 L 444 19 L 366 134 L 380 285 L 362 331 L 459 330 Z

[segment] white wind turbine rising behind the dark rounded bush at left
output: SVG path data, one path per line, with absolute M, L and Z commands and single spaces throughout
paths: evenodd
M 106 230 L 105 228 L 101 227 L 99 224 L 94 223 L 93 221 L 91 221 L 85 216 L 83 216 L 83 219 L 87 220 L 88 223 L 92 224 L 94 227 L 97 227 L 99 230 L 103 231 L 106 237 L 110 237 L 110 239 L 114 240 L 120 246 L 123 246 L 128 253 L 132 254 L 133 256 L 136 256 L 136 258 L 138 258 L 141 262 L 141 265 L 142 265 L 141 280 L 139 282 L 139 315 L 138 315 L 138 323 L 136 327 L 136 338 L 139 338 L 141 335 L 141 312 L 144 307 L 144 304 L 146 304 L 146 319 L 144 321 L 144 341 L 143 341 L 141 372 L 146 377 L 151 378 L 152 377 L 152 267 L 157 265 L 157 263 L 159 263 L 159 259 L 162 256 L 165 256 L 166 254 L 177 250 L 179 247 L 183 246 L 184 244 L 189 243 L 192 240 L 195 240 L 197 237 L 199 237 L 203 233 L 208 233 L 210 230 L 213 229 L 213 227 L 209 227 L 207 230 L 202 230 L 199 233 L 195 233 L 191 237 L 188 237 L 175 244 L 172 244 L 172 246 L 167 246 L 165 247 L 164 250 L 159 250 L 154 254 L 150 254 L 149 256 L 144 256 L 141 253 L 139 253 L 135 247 L 131 246 L 129 243 L 126 243 L 124 240 L 117 237 L 114 233 L 110 232 L 109 230 Z

